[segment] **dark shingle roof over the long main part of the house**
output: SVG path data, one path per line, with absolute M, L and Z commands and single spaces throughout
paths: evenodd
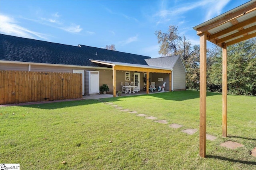
M 85 45 L 77 47 L 0 34 L 0 60 L 98 66 L 89 59 L 147 65 L 144 59 L 150 57 Z

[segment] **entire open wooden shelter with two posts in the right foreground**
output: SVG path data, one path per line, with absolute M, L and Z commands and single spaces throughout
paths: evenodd
M 216 2 L 218 3 L 218 2 Z M 222 136 L 227 137 L 227 46 L 256 37 L 256 0 L 193 27 L 200 36 L 199 155 L 206 156 L 206 40 L 222 48 Z

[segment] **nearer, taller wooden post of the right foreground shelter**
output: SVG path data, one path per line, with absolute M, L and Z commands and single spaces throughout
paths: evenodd
M 199 155 L 206 156 L 206 32 L 200 36 L 200 129 Z

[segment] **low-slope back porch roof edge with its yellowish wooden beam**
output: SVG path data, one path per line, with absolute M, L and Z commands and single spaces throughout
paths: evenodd
M 94 63 L 105 64 L 112 66 L 113 70 L 123 70 L 123 71 L 137 71 L 137 72 L 156 72 L 156 73 L 172 73 L 172 69 L 148 66 L 142 64 L 130 64 L 130 63 L 119 63 L 113 61 L 100 61 L 100 60 L 91 60 Z

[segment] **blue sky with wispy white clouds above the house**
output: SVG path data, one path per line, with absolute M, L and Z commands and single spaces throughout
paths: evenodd
M 155 31 L 178 26 L 193 45 L 192 27 L 249 0 L 0 0 L 0 33 L 67 45 L 105 47 L 160 57 Z

